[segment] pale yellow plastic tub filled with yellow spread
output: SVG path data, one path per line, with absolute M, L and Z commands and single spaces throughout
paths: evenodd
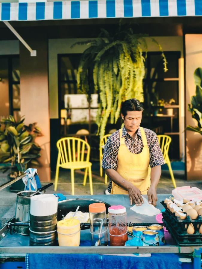
M 79 247 L 80 221 L 76 218 L 66 218 L 58 221 L 57 237 L 60 247 Z

